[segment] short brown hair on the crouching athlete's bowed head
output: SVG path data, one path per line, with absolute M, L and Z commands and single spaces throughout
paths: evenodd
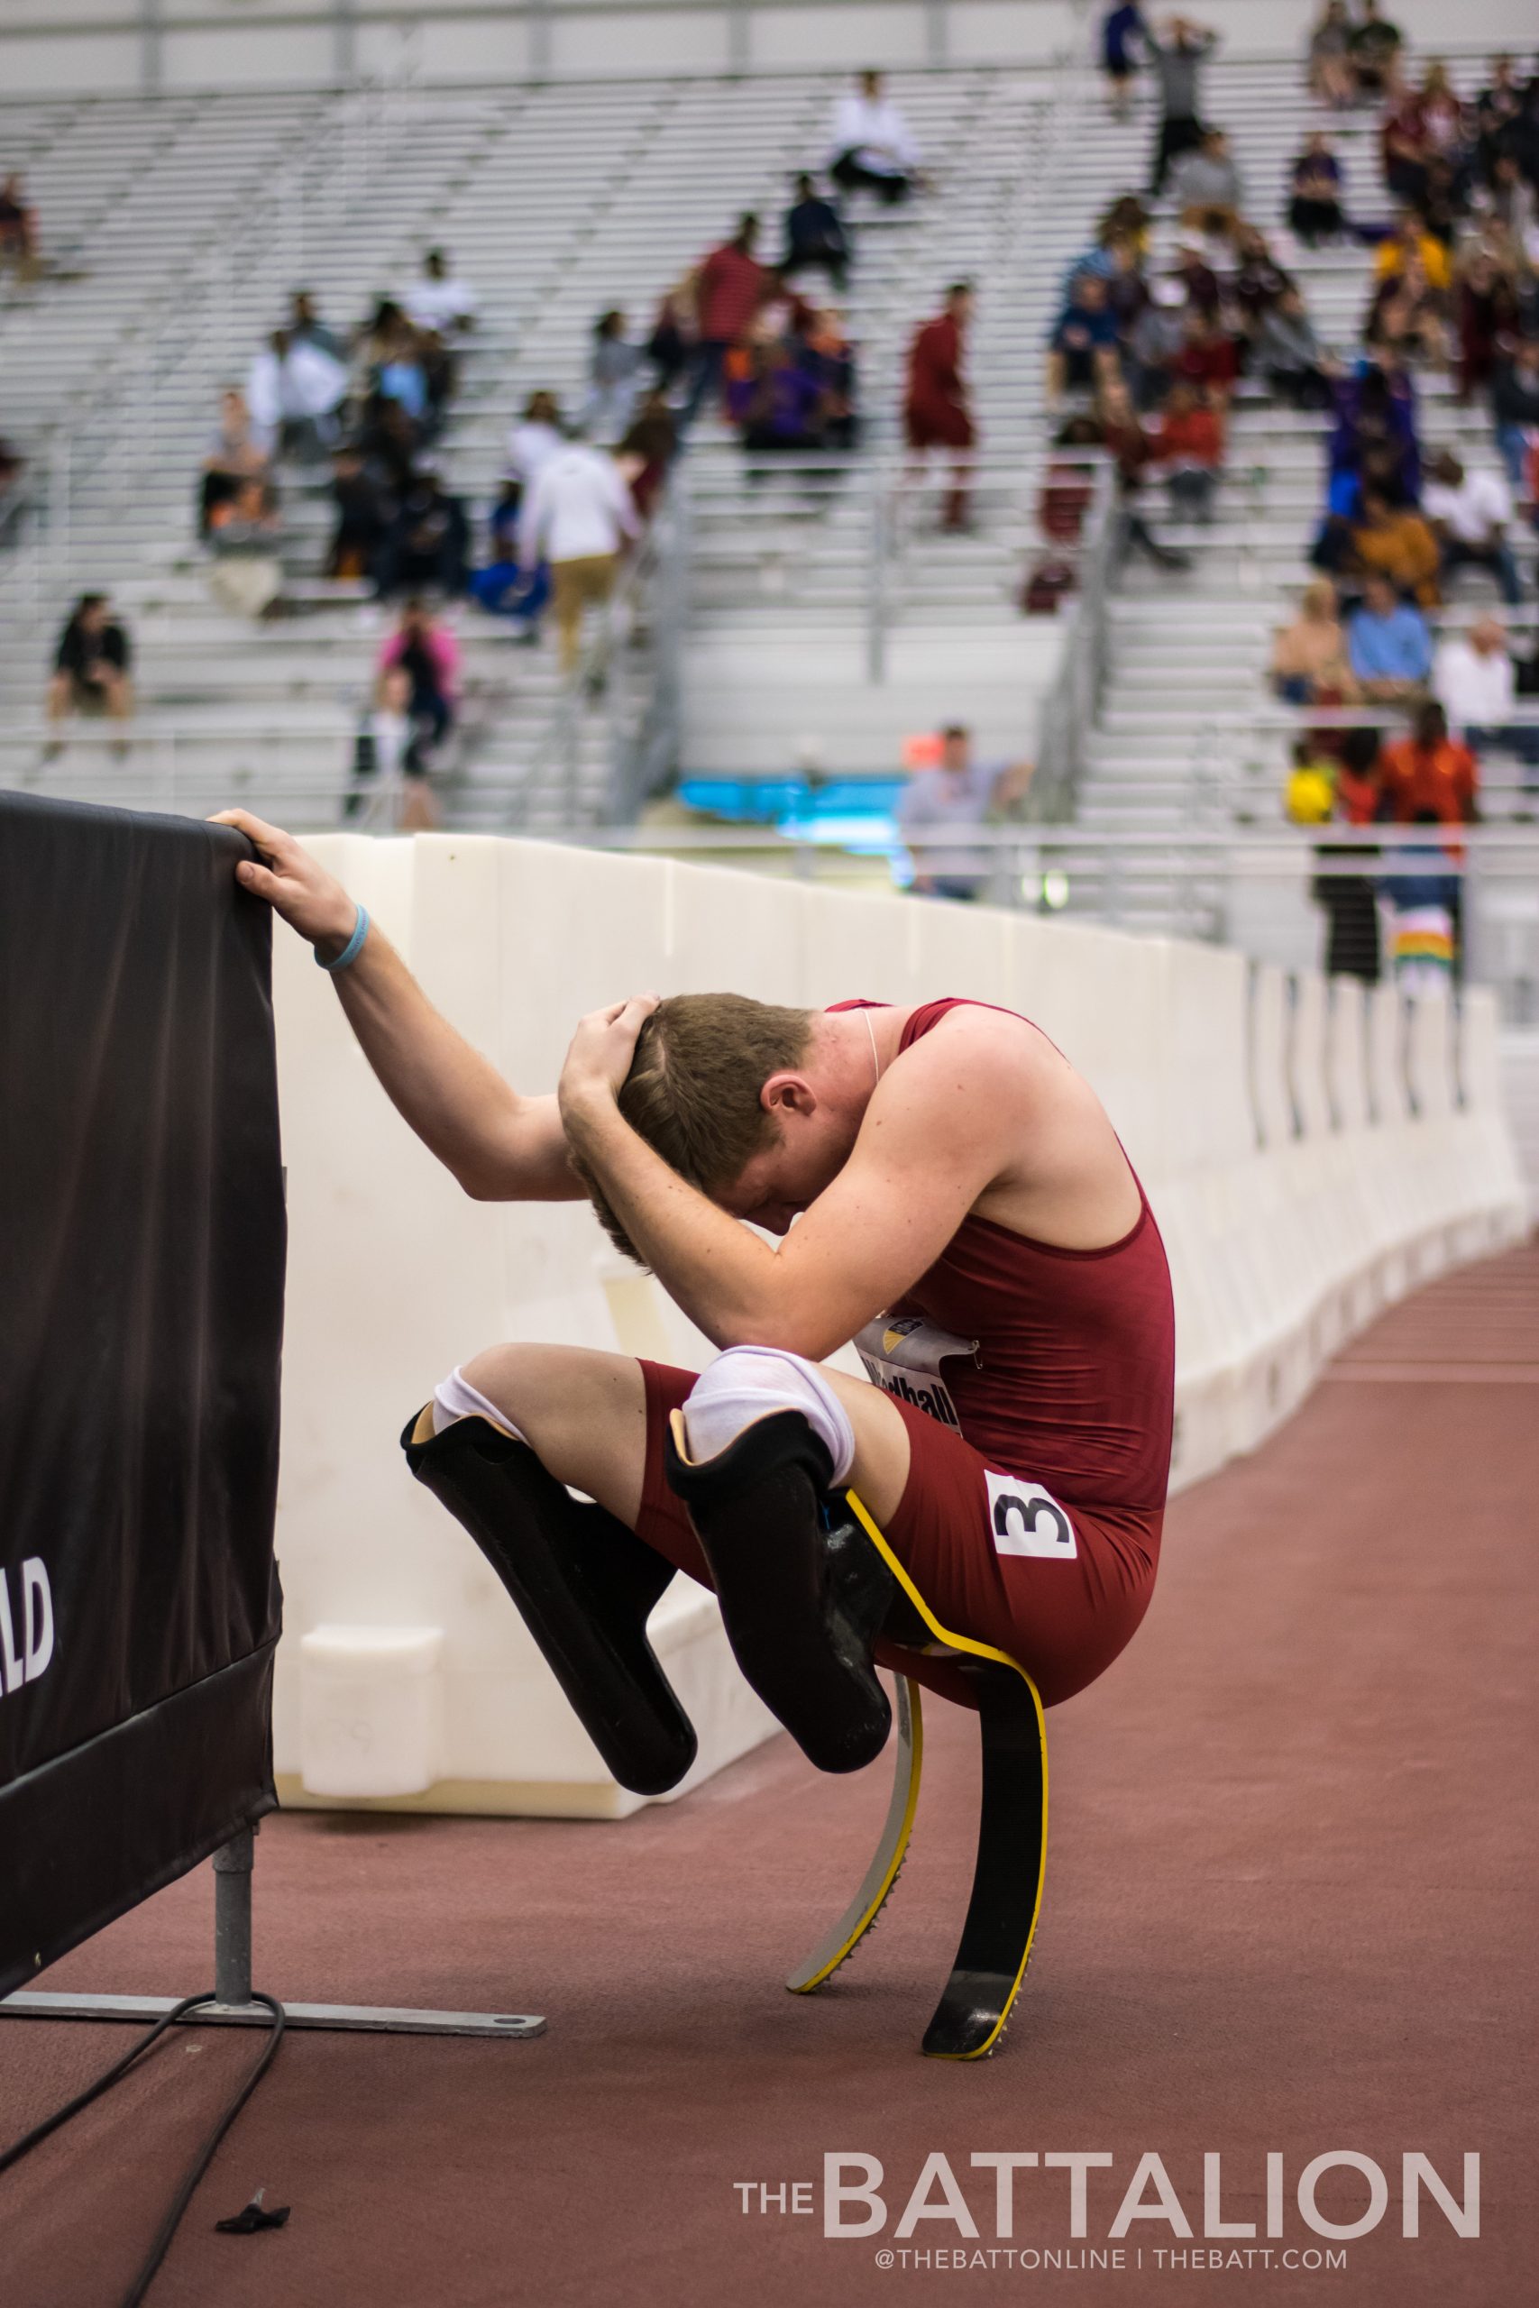
M 810 1041 L 812 1011 L 748 995 L 669 995 L 637 1036 L 621 1112 L 690 1186 L 715 1196 L 775 1145 L 759 1092 L 771 1073 L 801 1066 Z M 646 1265 L 598 1182 L 577 1168 L 609 1239 Z

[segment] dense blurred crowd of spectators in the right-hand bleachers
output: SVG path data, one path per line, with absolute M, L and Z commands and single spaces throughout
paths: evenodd
M 1516 755 L 1530 780 L 1539 766 L 1539 729 L 1511 718 L 1539 692 L 1532 621 L 1518 655 L 1491 614 L 1467 632 L 1435 630 L 1461 570 L 1507 612 L 1527 600 L 1514 535 L 1534 524 L 1539 496 L 1539 76 L 1497 55 L 1479 92 L 1461 97 L 1442 62 L 1410 60 L 1375 0 L 1327 0 L 1308 85 L 1331 111 L 1375 113 L 1384 192 L 1347 185 L 1331 136 L 1313 132 L 1287 171 L 1283 242 L 1255 217 L 1244 152 L 1204 113 L 1216 44 L 1191 18 L 1156 28 L 1133 5 L 1103 18 L 1108 104 L 1124 113 L 1144 72 L 1158 125 L 1147 194 L 1114 201 L 1064 277 L 1048 344 L 1059 441 L 1112 452 L 1126 547 L 1179 565 L 1181 531 L 1191 540 L 1214 510 L 1237 390 L 1324 415 L 1324 501 L 1306 542 L 1315 579 L 1276 637 L 1271 681 L 1283 704 L 1331 718 L 1299 739 L 1290 815 L 1463 824 L 1479 810 L 1484 752 Z M 1165 263 L 1149 254 L 1156 203 L 1177 231 Z M 1343 242 L 1373 252 L 1354 346 L 1322 342 L 1292 254 Z M 1426 445 L 1428 372 L 1484 413 L 1488 448 Z M 1151 526 L 1151 485 L 1174 535 Z M 1373 725 L 1354 727 L 1354 706 L 1373 709 Z M 1458 907 L 1428 949 L 1426 889 L 1412 907 L 1405 877 L 1380 879 L 1405 900 L 1396 923 L 1417 916 L 1396 962 L 1424 969 L 1431 953 L 1451 967 Z M 1320 898 L 1331 967 L 1377 974 L 1373 882 L 1336 861 Z

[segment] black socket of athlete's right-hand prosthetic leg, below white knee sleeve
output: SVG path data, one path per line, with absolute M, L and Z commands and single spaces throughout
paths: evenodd
M 819 1770 L 863 1770 L 893 1726 L 872 1666 L 893 1574 L 828 1493 L 833 1466 L 798 1410 L 755 1419 L 704 1466 L 669 1431 L 667 1479 L 711 1567 L 743 1676 Z

